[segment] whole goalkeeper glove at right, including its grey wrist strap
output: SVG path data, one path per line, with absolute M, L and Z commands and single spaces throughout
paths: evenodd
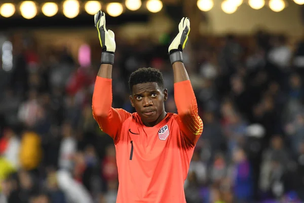
M 169 46 L 170 61 L 173 64 L 176 61 L 183 62 L 182 50 L 188 41 L 188 35 L 190 32 L 190 20 L 189 18 L 182 18 L 178 25 L 178 34 Z

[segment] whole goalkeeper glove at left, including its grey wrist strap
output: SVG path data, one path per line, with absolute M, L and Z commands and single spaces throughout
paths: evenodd
M 101 63 L 113 64 L 114 52 L 116 49 L 114 32 L 112 30 L 106 30 L 104 12 L 98 11 L 98 13 L 96 13 L 94 16 L 94 20 L 102 48 Z

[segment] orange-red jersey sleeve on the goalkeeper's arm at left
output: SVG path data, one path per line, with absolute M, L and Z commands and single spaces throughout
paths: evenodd
M 112 79 L 97 76 L 92 99 L 93 117 L 100 129 L 117 144 L 122 124 L 131 114 L 123 109 L 114 109 L 111 106 Z

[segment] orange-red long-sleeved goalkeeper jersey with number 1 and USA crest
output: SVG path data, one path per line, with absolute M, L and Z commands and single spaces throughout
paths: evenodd
M 97 76 L 93 116 L 114 140 L 119 173 L 118 203 L 184 203 L 184 181 L 203 131 L 190 81 L 174 84 L 178 114 L 153 127 L 137 113 L 114 109 L 112 82 Z

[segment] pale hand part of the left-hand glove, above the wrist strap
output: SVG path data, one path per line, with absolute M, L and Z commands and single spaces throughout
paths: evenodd
M 98 11 L 94 16 L 94 20 L 102 51 L 115 52 L 115 34 L 112 30 L 106 30 L 105 28 L 105 13 Z

